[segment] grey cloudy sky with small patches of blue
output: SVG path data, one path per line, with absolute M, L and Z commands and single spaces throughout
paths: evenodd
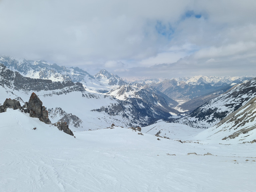
M 0 0 L 0 55 L 120 77 L 256 75 L 255 0 Z

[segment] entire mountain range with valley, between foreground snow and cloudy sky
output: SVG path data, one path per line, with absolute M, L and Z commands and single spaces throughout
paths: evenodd
M 1 95 L 24 103 L 36 92 L 50 118 L 75 130 L 147 126 L 160 119 L 209 128 L 256 96 L 255 79 L 249 77 L 199 75 L 128 83 L 104 69 L 92 76 L 46 61 L 2 56 L 0 62 Z

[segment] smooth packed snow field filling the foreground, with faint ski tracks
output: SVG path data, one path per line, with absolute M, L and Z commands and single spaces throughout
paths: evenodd
M 181 143 L 121 127 L 74 132 L 74 138 L 12 109 L 0 113 L 0 121 L 1 191 L 252 192 L 256 188 L 255 143 Z M 193 152 L 197 155 L 187 155 Z M 204 156 L 207 152 L 212 155 Z

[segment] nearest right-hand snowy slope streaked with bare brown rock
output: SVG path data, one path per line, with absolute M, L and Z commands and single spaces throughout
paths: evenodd
M 217 143 L 242 143 L 256 139 L 256 97 L 229 114 L 217 125 L 199 133 L 195 139 Z

